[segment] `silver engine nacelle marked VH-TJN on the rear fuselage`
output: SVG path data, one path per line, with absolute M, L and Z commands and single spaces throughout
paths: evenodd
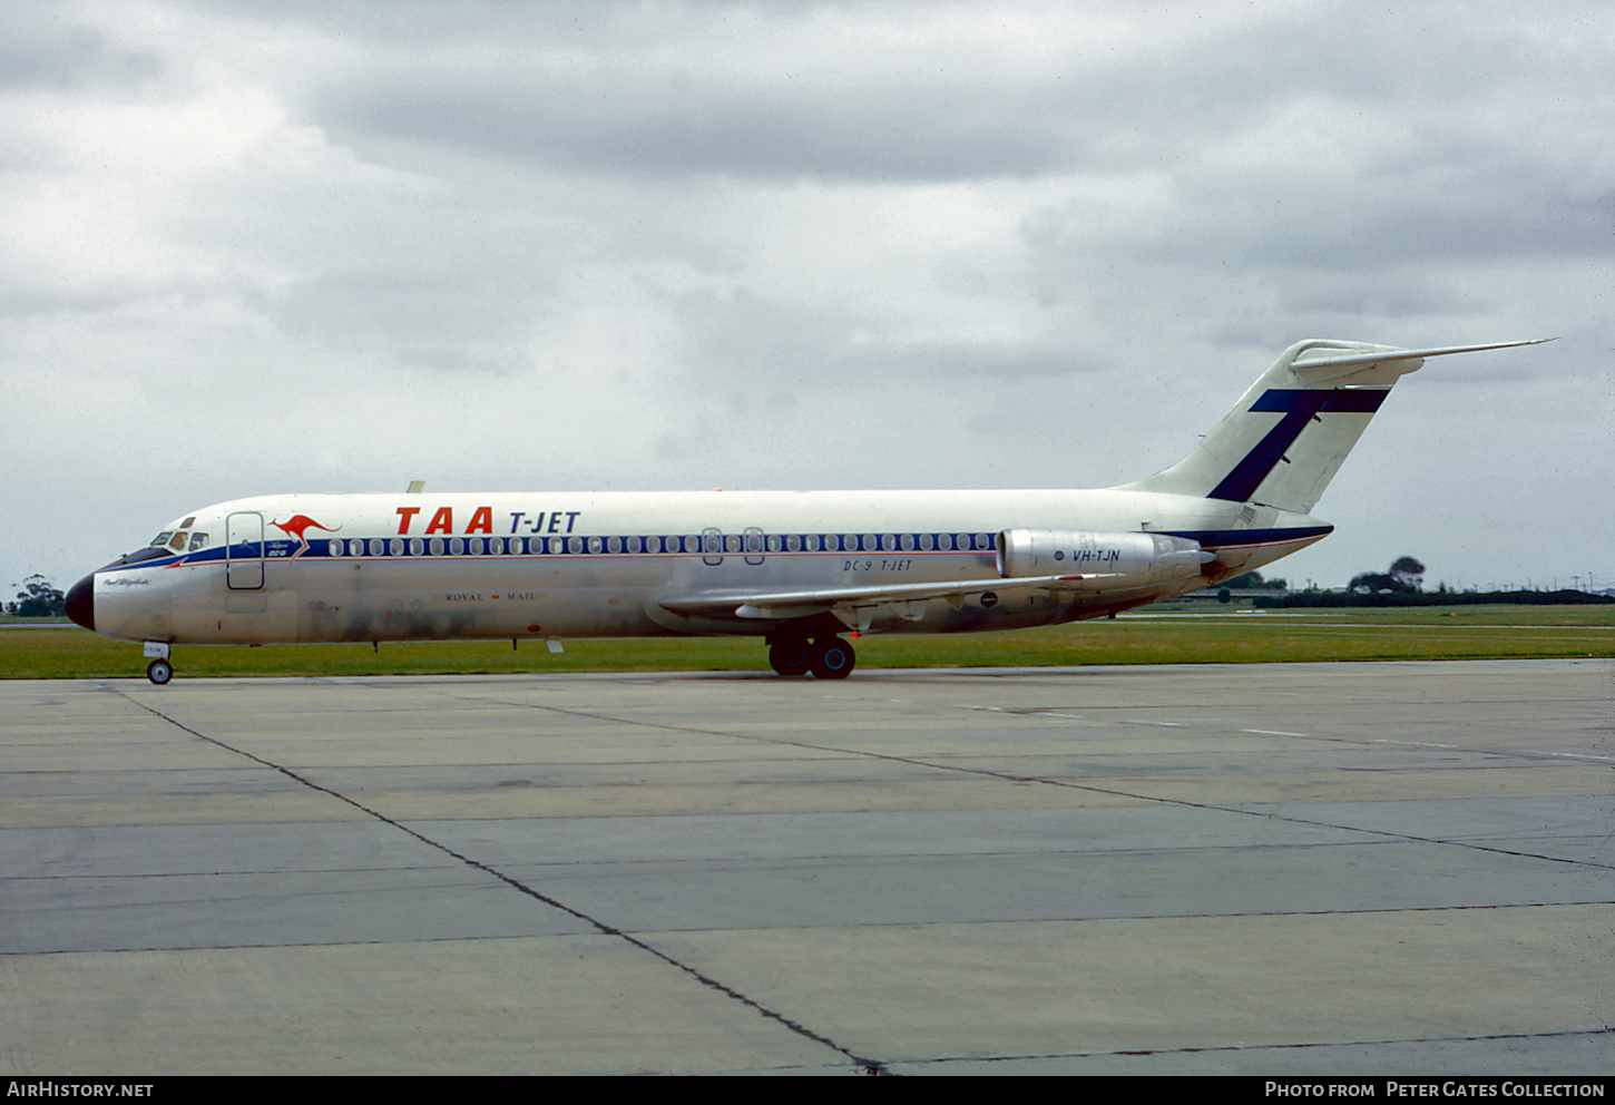
M 998 574 L 1093 577 L 1082 590 L 1116 591 L 1200 575 L 1213 559 L 1198 541 L 1164 533 L 1095 533 L 1092 530 L 1005 530 L 998 535 Z

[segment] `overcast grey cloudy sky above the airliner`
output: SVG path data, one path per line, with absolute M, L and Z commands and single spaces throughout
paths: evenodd
M 1271 574 L 1615 586 L 1610 136 L 1591 2 L 6 5 L 0 583 L 417 478 L 1106 486 L 1302 338 L 1557 336 Z

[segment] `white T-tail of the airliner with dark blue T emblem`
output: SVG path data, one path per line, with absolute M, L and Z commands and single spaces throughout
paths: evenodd
M 1426 357 L 1534 344 L 1397 349 L 1361 341 L 1295 342 L 1187 457 L 1121 489 L 1311 514 L 1392 384 Z

